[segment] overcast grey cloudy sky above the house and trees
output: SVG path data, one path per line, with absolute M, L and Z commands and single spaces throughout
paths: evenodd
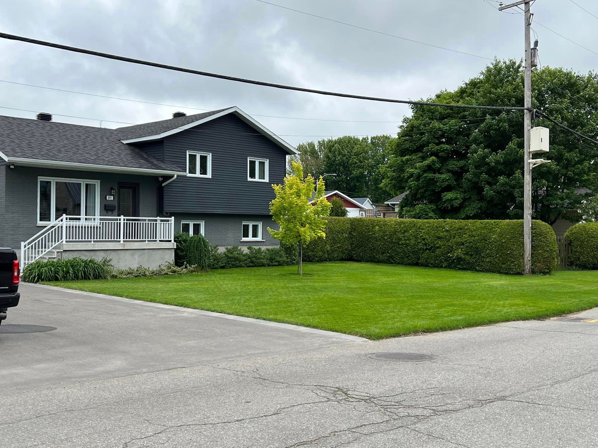
M 487 58 L 520 59 L 523 17 L 491 0 L 271 0 Z M 576 3 L 598 16 L 592 0 Z M 518 11 L 514 8 L 513 11 Z M 594 69 L 598 19 L 570 0 L 537 0 L 544 65 Z M 331 23 L 256 0 L 2 2 L 0 30 L 122 56 L 279 84 L 396 99 L 452 90 L 490 61 Z M 532 37 L 533 39 L 533 37 Z M 120 127 L 172 112 L 239 106 L 289 143 L 395 133 L 407 106 L 324 97 L 204 78 L 0 39 L 0 79 L 175 106 L 148 105 L 0 82 L 0 114 Z M 179 107 L 187 106 L 188 108 Z M 74 115 L 89 119 L 68 118 Z M 377 122 L 309 121 L 296 118 Z M 313 136 L 313 137 L 312 137 Z

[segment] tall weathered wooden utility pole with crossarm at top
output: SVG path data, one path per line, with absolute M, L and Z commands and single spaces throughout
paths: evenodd
M 532 128 L 532 13 L 530 2 L 523 0 L 499 7 L 506 10 L 521 4 L 524 5 L 525 36 L 525 81 L 524 103 L 526 108 L 523 120 L 523 273 L 532 274 L 532 164 L 530 163 L 530 130 Z

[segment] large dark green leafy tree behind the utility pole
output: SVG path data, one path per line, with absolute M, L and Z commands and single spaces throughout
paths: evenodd
M 598 135 L 598 76 L 544 67 L 532 75 L 532 105 L 568 127 Z M 495 62 L 455 91 L 429 99 L 466 105 L 523 105 L 523 67 Z M 413 106 L 383 168 L 401 213 L 416 218 L 514 219 L 523 216 L 523 112 Z M 533 217 L 575 219 L 579 186 L 596 187 L 598 147 L 536 117 L 550 128 L 553 163 L 533 169 Z M 538 156 L 536 156 L 538 157 Z

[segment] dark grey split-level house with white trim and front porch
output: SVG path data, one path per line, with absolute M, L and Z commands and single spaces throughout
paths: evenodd
M 22 264 L 172 260 L 174 234 L 277 246 L 272 183 L 296 150 L 233 107 L 117 129 L 0 116 L 0 246 Z

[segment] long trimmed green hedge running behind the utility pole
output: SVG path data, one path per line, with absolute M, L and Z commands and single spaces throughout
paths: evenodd
M 358 262 L 523 273 L 523 221 L 328 218 L 326 239 L 304 248 L 306 261 Z M 557 243 L 547 223 L 532 225 L 532 272 L 556 267 Z

